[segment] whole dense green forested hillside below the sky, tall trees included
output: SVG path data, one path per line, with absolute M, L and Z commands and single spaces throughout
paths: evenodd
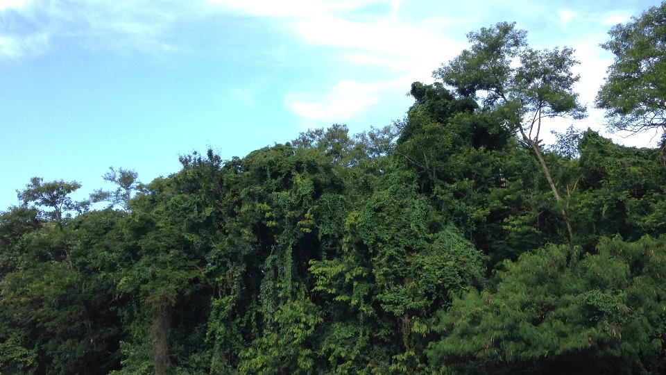
M 652 112 L 629 95 L 663 51 L 622 63 L 646 30 L 663 50 L 640 26 L 659 15 L 604 47 L 617 128 L 663 126 L 641 116 L 666 91 Z M 89 201 L 33 178 L 0 213 L 0 373 L 663 374 L 664 142 L 545 147 L 542 122 L 586 115 L 574 51 L 507 23 L 468 37 L 385 128 L 191 153 L 147 184 L 112 169 Z

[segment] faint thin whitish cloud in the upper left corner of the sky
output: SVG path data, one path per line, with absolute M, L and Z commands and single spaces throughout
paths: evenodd
M 177 1 L 0 0 L 0 53 L 20 57 L 49 40 L 76 39 L 91 49 L 173 52 L 164 35 L 199 6 Z

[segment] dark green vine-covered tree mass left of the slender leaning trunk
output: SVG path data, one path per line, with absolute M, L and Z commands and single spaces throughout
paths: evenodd
M 454 99 L 441 85 L 414 83 L 412 88 L 416 103 L 395 152 L 418 174 L 430 204 L 493 264 L 560 241 L 565 228 L 552 217 L 557 206 L 547 181 L 536 160 L 502 126 L 502 112 L 470 113 L 475 106 L 468 106 L 468 99 Z M 447 109 L 438 110 L 441 106 Z M 549 163 L 558 160 L 546 157 Z

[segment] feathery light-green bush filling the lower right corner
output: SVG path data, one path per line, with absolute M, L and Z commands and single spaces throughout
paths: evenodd
M 551 246 L 507 261 L 496 292 L 463 294 L 440 315 L 429 358 L 488 372 L 658 372 L 665 240 L 617 237 L 582 258 Z

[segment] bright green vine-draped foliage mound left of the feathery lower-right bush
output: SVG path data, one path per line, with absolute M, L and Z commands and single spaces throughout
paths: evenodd
M 413 178 L 388 175 L 384 188 L 345 220 L 341 256 L 310 262 L 314 290 L 329 296 L 324 313 L 333 326 L 321 355 L 334 373 L 422 369 L 434 311 L 450 292 L 483 278 L 481 253 L 443 225 Z

